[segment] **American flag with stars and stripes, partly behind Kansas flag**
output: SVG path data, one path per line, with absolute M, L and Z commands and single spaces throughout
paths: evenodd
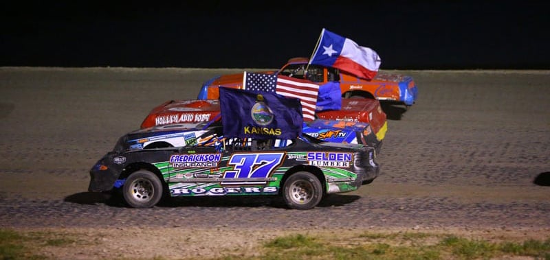
M 243 89 L 249 91 L 275 92 L 285 97 L 300 99 L 304 121 L 315 120 L 319 85 L 309 80 L 300 80 L 284 75 L 250 73 L 245 71 Z

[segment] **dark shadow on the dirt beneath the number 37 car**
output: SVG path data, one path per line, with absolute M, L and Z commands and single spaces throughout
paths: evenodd
M 360 196 L 329 194 L 318 204 L 318 207 L 343 206 L 358 200 Z M 65 202 L 76 204 L 106 204 L 108 206 L 127 208 L 120 196 L 111 196 L 109 193 L 98 192 L 80 192 L 67 196 Z M 197 196 L 197 197 L 170 197 L 165 198 L 158 207 L 177 208 L 177 207 L 259 207 L 268 206 L 277 209 L 288 209 L 287 205 L 280 196 Z

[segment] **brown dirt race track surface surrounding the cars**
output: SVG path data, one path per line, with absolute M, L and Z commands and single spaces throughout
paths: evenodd
M 90 242 L 43 252 L 59 259 L 252 254 L 296 232 L 550 235 L 550 71 L 387 71 L 412 75 L 419 99 L 385 107 L 380 177 L 309 211 L 277 198 L 128 209 L 87 192 L 91 166 L 153 106 L 237 71 L 0 68 L 0 228 Z

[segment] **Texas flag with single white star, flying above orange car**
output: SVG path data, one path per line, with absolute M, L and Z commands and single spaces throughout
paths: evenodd
M 374 78 L 380 67 L 380 56 L 373 49 L 359 46 L 323 28 L 309 64 L 335 67 L 360 78 Z

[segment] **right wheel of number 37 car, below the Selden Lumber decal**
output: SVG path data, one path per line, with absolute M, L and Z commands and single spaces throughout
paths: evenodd
M 320 180 L 309 172 L 296 172 L 285 180 L 283 199 L 291 209 L 311 209 L 322 199 Z

